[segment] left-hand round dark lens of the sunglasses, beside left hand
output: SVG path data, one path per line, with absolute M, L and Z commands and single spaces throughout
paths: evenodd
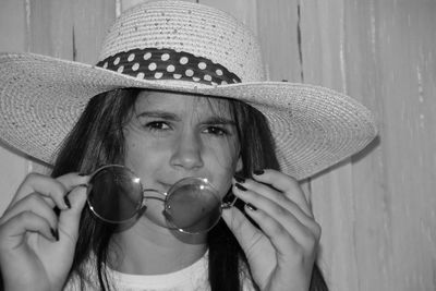
M 104 167 L 89 180 L 88 204 L 100 219 L 118 223 L 135 217 L 142 206 L 140 179 L 122 166 Z

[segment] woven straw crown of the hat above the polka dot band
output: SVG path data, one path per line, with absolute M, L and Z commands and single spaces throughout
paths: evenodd
M 136 5 L 111 26 L 99 61 L 145 48 L 189 52 L 225 66 L 242 82 L 265 81 L 256 37 L 234 17 L 210 7 L 169 0 Z

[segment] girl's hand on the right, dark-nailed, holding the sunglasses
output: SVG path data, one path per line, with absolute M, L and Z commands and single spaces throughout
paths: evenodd
M 296 180 L 276 170 L 253 179 L 234 181 L 232 190 L 259 228 L 235 207 L 222 214 L 245 252 L 253 280 L 264 291 L 308 290 L 320 227 L 304 193 Z

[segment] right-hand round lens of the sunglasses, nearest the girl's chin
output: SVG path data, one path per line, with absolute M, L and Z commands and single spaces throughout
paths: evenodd
M 170 228 L 186 233 L 205 232 L 221 217 L 221 199 L 207 180 L 187 178 L 171 187 L 164 215 Z

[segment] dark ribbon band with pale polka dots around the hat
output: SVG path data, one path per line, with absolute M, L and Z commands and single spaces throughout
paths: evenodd
M 172 49 L 134 49 L 119 52 L 97 66 L 146 80 L 182 80 L 207 85 L 241 83 L 219 63 Z

